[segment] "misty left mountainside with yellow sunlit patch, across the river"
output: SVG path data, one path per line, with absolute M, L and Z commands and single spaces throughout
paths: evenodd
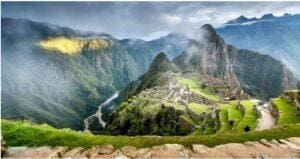
M 1 22 L 2 117 L 55 127 L 82 129 L 83 119 L 143 74 L 157 51 L 183 47 L 174 46 L 174 34 L 144 41 L 143 50 L 105 33 L 26 19 Z

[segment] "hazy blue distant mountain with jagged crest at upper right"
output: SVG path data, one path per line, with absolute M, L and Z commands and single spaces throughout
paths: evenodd
M 295 77 L 300 78 L 299 14 L 281 17 L 267 14 L 251 23 L 247 23 L 249 20 L 233 21 L 217 29 L 226 43 L 270 55 L 282 61 Z

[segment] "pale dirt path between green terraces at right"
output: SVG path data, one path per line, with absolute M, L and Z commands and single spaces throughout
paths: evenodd
M 266 130 L 271 129 L 275 125 L 274 119 L 272 118 L 272 115 L 268 109 L 268 103 L 265 103 L 263 105 L 259 105 L 257 109 L 261 113 L 261 119 L 259 120 L 259 123 L 257 125 L 257 130 Z

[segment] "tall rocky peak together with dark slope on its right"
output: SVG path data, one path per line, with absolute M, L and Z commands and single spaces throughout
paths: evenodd
M 232 88 L 268 99 L 296 87 L 292 73 L 270 56 L 228 46 L 211 25 L 204 25 L 173 62 L 183 71 L 222 78 Z

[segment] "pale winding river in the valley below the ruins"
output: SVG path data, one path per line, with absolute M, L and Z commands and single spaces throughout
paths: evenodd
M 95 114 L 85 118 L 83 120 L 84 123 L 84 131 L 88 131 L 89 130 L 89 119 L 92 117 L 97 117 L 99 120 L 99 124 L 102 125 L 102 127 L 105 127 L 106 122 L 102 119 L 102 108 L 107 106 L 111 101 L 113 101 L 114 99 L 116 99 L 119 96 L 119 92 L 116 92 L 115 94 L 113 94 L 111 97 L 109 97 L 105 102 L 103 102 L 101 105 L 98 106 L 98 110 L 96 111 Z

